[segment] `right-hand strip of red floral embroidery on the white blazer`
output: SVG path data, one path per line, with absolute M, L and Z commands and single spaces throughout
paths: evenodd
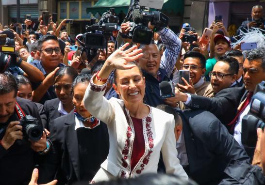
M 148 144 L 149 144 L 149 148 L 150 150 L 148 151 L 148 154 L 144 157 L 143 159 L 143 163 L 140 165 L 141 170 L 136 170 L 137 174 L 142 173 L 142 170 L 145 170 L 145 165 L 147 165 L 149 163 L 149 159 L 150 159 L 150 155 L 153 153 L 153 151 L 151 150 L 154 147 L 154 139 L 153 139 L 153 133 L 151 131 L 151 124 L 152 119 L 148 116 L 146 118 L 146 129 L 147 129 L 147 137 L 148 137 Z

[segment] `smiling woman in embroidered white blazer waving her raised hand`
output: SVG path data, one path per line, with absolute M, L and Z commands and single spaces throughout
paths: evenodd
M 91 78 L 84 95 L 85 108 L 107 124 L 110 137 L 108 157 L 92 182 L 157 173 L 160 152 L 166 173 L 188 179 L 177 158 L 174 117 L 143 103 L 145 78 L 140 68 L 130 63 L 142 57 L 142 50 L 133 46 L 124 51 L 127 46 L 107 59 L 100 72 Z M 107 100 L 103 96 L 106 81 L 115 69 L 113 86 L 121 100 Z

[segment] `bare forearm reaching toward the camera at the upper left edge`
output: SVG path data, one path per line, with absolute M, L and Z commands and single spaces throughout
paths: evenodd
M 19 62 L 19 58 L 17 58 L 17 62 Z M 25 72 L 24 76 L 28 77 L 30 81 L 40 82 L 44 80 L 43 73 L 30 63 L 22 61 L 19 64 L 19 67 Z

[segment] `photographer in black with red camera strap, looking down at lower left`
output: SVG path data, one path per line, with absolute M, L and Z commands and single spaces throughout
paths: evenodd
M 25 123 L 31 115 L 34 123 Z M 22 122 L 19 120 L 23 117 Z M 38 123 L 37 123 L 38 121 Z M 26 125 L 27 124 L 27 125 Z M 36 141 L 29 128 L 38 127 Z M 28 128 L 27 131 L 25 128 Z M 10 73 L 0 74 L 0 184 L 24 185 L 29 183 L 40 154 L 49 150 L 50 142 L 40 131 L 41 119 L 33 102 L 17 97 L 17 83 Z M 35 130 L 35 129 L 34 129 Z M 42 134 L 42 136 L 41 136 Z M 38 152 L 38 153 L 37 153 Z M 15 178 L 14 178 L 15 177 Z

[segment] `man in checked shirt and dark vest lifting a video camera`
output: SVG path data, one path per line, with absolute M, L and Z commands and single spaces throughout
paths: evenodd
M 129 32 L 130 22 L 121 24 L 123 34 Z M 149 25 L 149 29 L 153 30 L 154 27 Z M 168 28 L 163 28 L 157 31 L 166 50 L 161 57 L 159 48 L 152 41 L 149 45 L 140 45 L 139 48 L 143 49 L 144 56 L 138 60 L 139 66 L 143 71 L 146 78 L 146 94 L 145 102 L 153 107 L 159 104 L 164 104 L 163 99 L 160 97 L 159 83 L 164 80 L 169 80 L 169 77 L 174 69 L 175 63 L 179 56 L 182 41 L 178 36 Z M 128 39 L 126 39 L 126 42 Z

